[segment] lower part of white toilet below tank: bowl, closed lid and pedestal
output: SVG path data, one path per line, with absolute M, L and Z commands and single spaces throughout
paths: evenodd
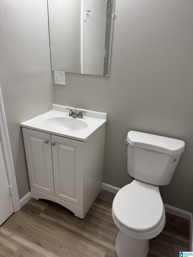
M 159 235 L 166 222 L 159 187 L 133 180 L 116 194 L 112 218 L 120 229 L 115 243 L 118 256 L 146 257 L 149 239 Z

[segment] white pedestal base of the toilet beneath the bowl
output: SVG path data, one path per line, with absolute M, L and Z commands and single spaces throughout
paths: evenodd
M 119 230 L 115 242 L 115 249 L 119 257 L 147 257 L 149 239 L 135 239 Z

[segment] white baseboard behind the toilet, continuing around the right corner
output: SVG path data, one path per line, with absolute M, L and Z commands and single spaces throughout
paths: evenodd
M 111 186 L 106 183 L 102 184 L 102 189 L 114 194 L 116 194 L 120 190 L 120 188 Z M 164 204 L 164 208 L 166 212 L 189 221 L 190 251 L 192 252 L 193 251 L 193 215 L 192 213 L 186 212 L 184 210 L 181 210 L 179 208 L 176 208 L 167 204 Z

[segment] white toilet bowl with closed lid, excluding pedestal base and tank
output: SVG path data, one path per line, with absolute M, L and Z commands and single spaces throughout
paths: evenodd
M 117 227 L 136 239 L 156 237 L 165 225 L 165 209 L 162 198 L 151 185 L 133 180 L 116 194 L 112 204 L 112 216 Z

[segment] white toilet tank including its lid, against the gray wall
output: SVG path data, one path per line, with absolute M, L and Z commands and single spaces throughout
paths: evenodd
M 184 141 L 129 131 L 127 142 L 127 168 L 132 177 L 158 186 L 170 183 L 185 149 Z

